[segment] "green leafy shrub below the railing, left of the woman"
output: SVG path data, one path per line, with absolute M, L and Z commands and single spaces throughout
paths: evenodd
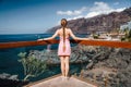
M 19 62 L 24 67 L 24 80 L 27 80 L 29 77 L 37 77 L 46 71 L 47 65 L 45 61 L 34 57 L 26 57 L 26 52 L 20 52 L 17 55 L 21 57 Z

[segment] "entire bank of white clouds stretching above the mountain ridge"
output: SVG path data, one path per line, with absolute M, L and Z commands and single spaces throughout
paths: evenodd
M 119 4 L 119 2 L 116 2 L 116 4 Z M 114 9 L 111 8 L 108 3 L 106 2 L 94 2 L 93 7 L 84 7 L 81 8 L 80 10 L 74 10 L 74 11 L 58 11 L 57 14 L 60 15 L 72 15 L 73 17 L 70 17 L 68 20 L 75 20 L 80 17 L 93 17 L 99 14 L 108 14 L 110 12 L 121 12 L 126 8 L 119 8 L 119 9 Z M 85 14 L 85 15 L 84 15 Z

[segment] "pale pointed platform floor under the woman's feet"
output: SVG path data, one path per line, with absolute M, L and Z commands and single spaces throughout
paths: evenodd
M 96 84 L 71 76 L 68 79 L 61 75 L 56 75 L 46 79 L 31 83 L 24 87 L 97 87 Z

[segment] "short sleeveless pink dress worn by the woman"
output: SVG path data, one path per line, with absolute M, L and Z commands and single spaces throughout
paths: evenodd
M 63 51 L 63 37 L 60 37 L 59 47 L 58 47 L 58 55 L 70 55 L 71 54 L 71 46 L 70 46 L 69 36 L 66 37 L 64 45 L 66 45 L 66 50 Z

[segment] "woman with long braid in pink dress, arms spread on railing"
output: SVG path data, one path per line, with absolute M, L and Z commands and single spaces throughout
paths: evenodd
M 61 61 L 61 73 L 62 73 L 62 76 L 64 77 L 68 77 L 68 74 L 69 74 L 69 59 L 71 54 L 71 46 L 70 46 L 69 37 L 71 36 L 73 39 L 78 39 L 78 40 L 87 39 L 87 38 L 75 37 L 72 30 L 67 27 L 67 24 L 68 24 L 67 20 L 62 18 L 60 29 L 57 29 L 57 32 L 49 38 L 39 39 L 39 40 L 49 40 L 49 39 L 53 39 L 55 37 L 59 36 L 60 41 L 59 41 L 59 47 L 58 47 L 58 55 Z

